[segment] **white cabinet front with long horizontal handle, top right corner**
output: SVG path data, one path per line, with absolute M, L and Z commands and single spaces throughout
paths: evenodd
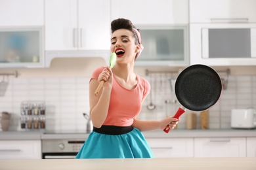
M 256 22 L 255 0 L 190 0 L 190 23 Z

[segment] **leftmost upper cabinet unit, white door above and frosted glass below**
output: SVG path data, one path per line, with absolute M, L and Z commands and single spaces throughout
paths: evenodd
M 43 0 L 0 1 L 0 67 L 44 66 Z

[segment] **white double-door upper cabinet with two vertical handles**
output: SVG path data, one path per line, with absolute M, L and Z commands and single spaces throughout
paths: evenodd
M 110 1 L 45 0 L 45 50 L 109 50 Z

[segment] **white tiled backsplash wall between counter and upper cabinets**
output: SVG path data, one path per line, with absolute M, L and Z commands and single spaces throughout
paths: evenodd
M 180 107 L 175 99 L 171 83 L 175 79 L 165 76 L 145 76 L 152 92 L 143 103 L 139 116 L 144 120 L 159 120 L 174 115 Z M 20 130 L 20 104 L 22 101 L 45 101 L 47 130 L 85 131 L 87 120 L 83 112 L 89 112 L 89 77 L 81 78 L 13 78 L 5 96 L 0 96 L 0 112 L 12 114 L 9 130 Z M 156 105 L 153 110 L 150 104 Z M 256 107 L 256 76 L 229 76 L 227 89 L 221 99 L 209 109 L 209 128 L 230 128 L 232 109 Z M 186 113 L 191 112 L 187 110 Z M 186 129 L 186 116 L 181 116 L 178 129 Z M 197 128 L 200 129 L 200 112 Z

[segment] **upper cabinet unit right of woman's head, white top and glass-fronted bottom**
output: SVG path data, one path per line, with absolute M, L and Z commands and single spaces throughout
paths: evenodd
M 140 29 L 144 50 L 135 66 L 188 65 L 188 0 L 111 1 L 111 19 Z

